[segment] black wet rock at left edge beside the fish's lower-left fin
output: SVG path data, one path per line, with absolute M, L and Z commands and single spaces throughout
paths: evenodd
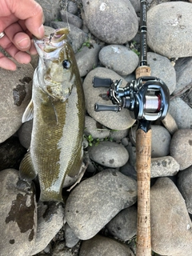
M 0 144 L 0 170 L 14 168 L 18 170 L 26 149 L 19 143 L 17 137 L 11 137 Z

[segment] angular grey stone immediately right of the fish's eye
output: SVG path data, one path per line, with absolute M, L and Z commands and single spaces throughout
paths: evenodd
M 82 46 L 82 48 L 78 50 L 78 53 L 75 54 L 81 77 L 86 76 L 90 70 L 98 66 L 98 52 L 100 48 L 98 44 L 90 43 L 90 47 Z

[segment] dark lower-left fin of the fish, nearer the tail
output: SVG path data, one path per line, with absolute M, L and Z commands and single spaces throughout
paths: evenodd
M 28 151 L 19 166 L 19 177 L 27 182 L 32 181 L 38 173 L 34 170 L 33 162 Z

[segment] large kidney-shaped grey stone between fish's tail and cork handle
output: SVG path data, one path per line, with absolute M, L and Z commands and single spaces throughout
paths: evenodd
M 136 200 L 137 182 L 134 179 L 118 170 L 102 170 L 72 190 L 66 200 L 66 222 L 79 239 L 90 239 L 120 210 L 132 206 Z

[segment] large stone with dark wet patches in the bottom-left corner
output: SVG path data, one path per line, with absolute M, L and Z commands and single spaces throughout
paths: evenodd
M 1 255 L 31 255 L 37 228 L 34 186 L 18 179 L 18 170 L 0 172 Z

